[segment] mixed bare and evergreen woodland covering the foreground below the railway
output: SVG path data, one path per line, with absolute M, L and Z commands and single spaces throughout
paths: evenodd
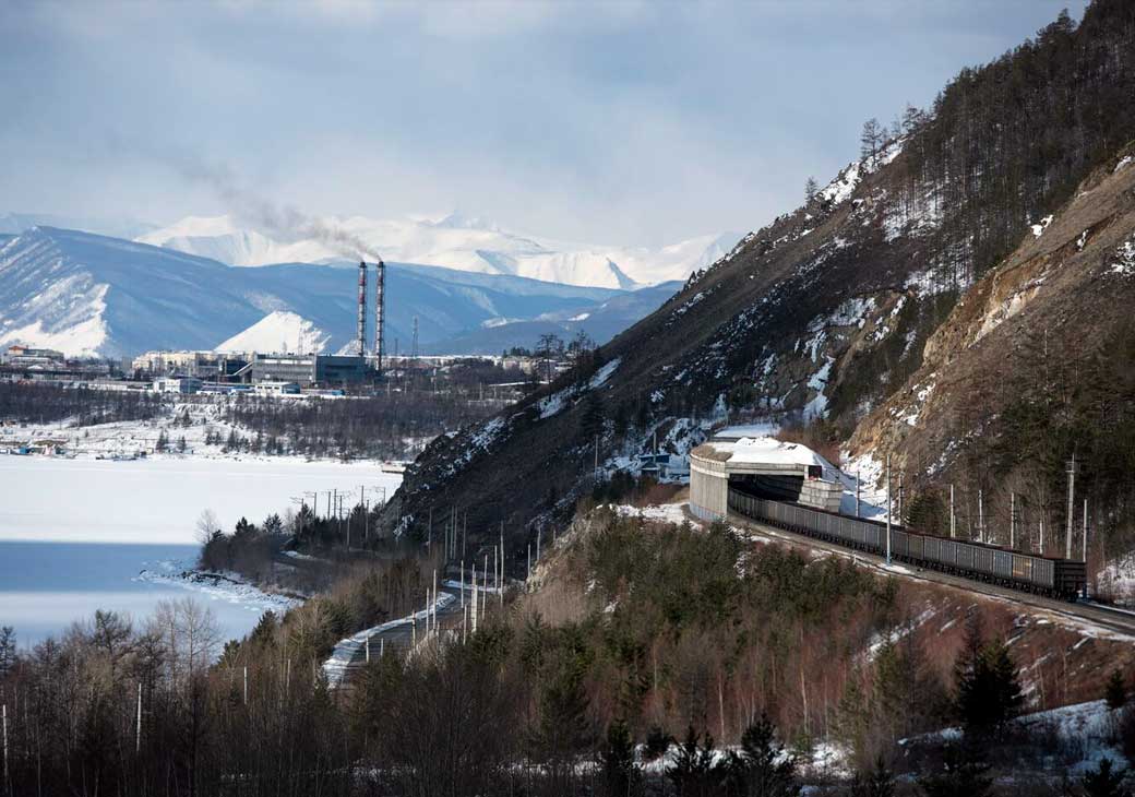
M 1024 694 L 978 623 L 943 676 L 909 637 L 858 655 L 901 598 L 839 560 L 603 512 L 556 555 L 558 587 L 493 602 L 463 643 L 376 654 L 339 690 L 334 644 L 419 607 L 432 561 L 368 563 L 224 645 L 180 602 L 0 649 L 8 794 L 796 795 L 821 740 L 851 750 L 834 794 L 897 794 L 900 769 L 917 794 L 991 794 Z M 958 744 L 903 763 L 898 739 L 955 723 Z

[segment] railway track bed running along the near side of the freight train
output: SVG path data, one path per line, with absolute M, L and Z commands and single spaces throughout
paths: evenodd
M 775 537 L 794 545 L 817 551 L 827 551 L 840 556 L 854 559 L 857 562 L 874 567 L 880 572 L 909 578 L 916 581 L 944 584 L 950 587 L 957 587 L 958 589 L 965 589 L 969 593 L 976 593 L 978 595 L 986 595 L 989 597 L 1003 601 L 1011 601 L 1024 606 L 1041 609 L 1062 620 L 1075 623 L 1087 623 L 1104 631 L 1129 636 L 1133 638 L 1133 641 L 1135 641 L 1135 613 L 1083 601 L 1076 603 L 1057 601 L 1042 595 L 1033 595 L 1032 593 L 1009 589 L 993 584 L 985 584 L 984 581 L 974 581 L 967 578 L 951 576 L 950 573 L 943 573 L 938 570 L 922 570 L 916 565 L 906 562 L 897 562 L 888 567 L 882 556 L 876 556 L 875 554 L 865 553 L 863 551 L 852 551 L 851 548 L 846 548 L 842 545 L 835 545 L 834 543 L 815 539 L 814 537 L 808 537 L 807 535 L 796 534 L 794 531 L 785 531 L 784 529 L 776 528 L 774 526 L 758 523 L 750 518 L 746 518 L 745 515 L 737 514 L 734 512 L 730 512 L 729 522 L 737 528 L 749 529 L 755 534 L 760 534 L 766 537 Z

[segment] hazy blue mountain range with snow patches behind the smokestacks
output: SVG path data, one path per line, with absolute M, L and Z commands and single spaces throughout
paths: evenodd
M 422 353 L 531 346 L 546 332 L 604 341 L 679 284 L 630 292 L 388 263 L 386 339 Z M 149 349 L 352 345 L 358 271 L 334 265 L 238 268 L 92 233 L 40 226 L 0 234 L 0 344 L 68 354 Z M 368 312 L 368 342 L 373 335 Z

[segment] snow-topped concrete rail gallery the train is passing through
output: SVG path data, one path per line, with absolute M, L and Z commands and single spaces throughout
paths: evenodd
M 730 489 L 839 511 L 839 469 L 805 445 L 766 435 L 759 427 L 731 427 L 690 452 L 690 512 L 703 520 L 724 518 Z

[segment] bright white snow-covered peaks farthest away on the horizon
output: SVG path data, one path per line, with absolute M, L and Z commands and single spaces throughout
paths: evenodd
M 286 235 L 241 225 L 230 216 L 188 217 L 137 238 L 233 266 L 278 262 L 329 263 L 360 254 L 342 238 L 364 243 L 386 260 L 529 277 L 565 285 L 632 290 L 684 280 L 691 271 L 721 258 L 739 236 L 700 236 L 661 249 L 599 246 L 521 235 L 477 217 L 452 213 L 439 220 L 322 219 L 340 233 L 331 236 Z

